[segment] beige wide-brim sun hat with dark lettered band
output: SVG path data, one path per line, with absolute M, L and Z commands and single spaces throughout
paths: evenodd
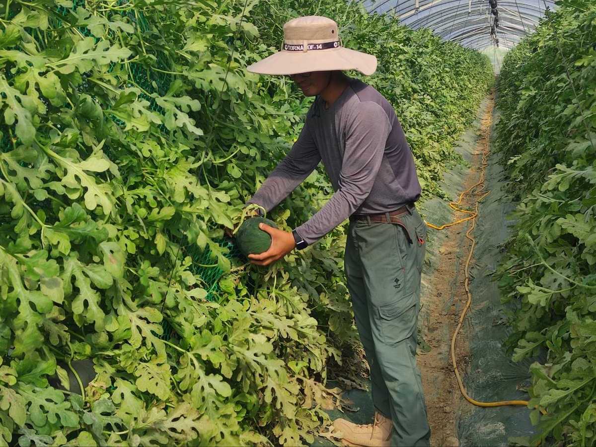
M 358 70 L 370 76 L 377 70 L 377 58 L 344 48 L 334 20 L 320 15 L 308 15 L 287 21 L 284 24 L 281 51 L 249 65 L 247 70 L 259 74 Z

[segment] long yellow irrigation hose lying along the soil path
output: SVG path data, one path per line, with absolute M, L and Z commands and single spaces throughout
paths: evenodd
M 472 230 L 474 230 L 474 227 L 476 226 L 476 217 L 479 214 L 478 213 L 479 203 L 490 192 L 490 191 L 484 191 L 484 182 L 485 182 L 485 168 L 488 166 L 487 159 L 488 159 L 488 155 L 489 155 L 489 140 L 490 140 L 490 133 L 491 133 L 491 121 L 492 121 L 493 107 L 494 107 L 494 103 L 491 101 L 491 103 L 489 104 L 488 110 L 486 111 L 486 117 L 483 118 L 483 120 L 482 120 L 483 135 L 478 140 L 479 146 L 483 146 L 482 164 L 480 165 L 480 180 L 475 185 L 469 187 L 467 190 L 462 192 L 460 194 L 460 198 L 457 202 L 449 202 L 449 207 L 451 207 L 452 210 L 465 212 L 466 214 L 470 214 L 470 215 L 468 217 L 461 219 L 461 220 L 458 220 L 458 221 L 455 221 L 452 223 L 448 223 L 448 224 L 442 225 L 440 227 L 430 224 L 428 222 L 426 223 L 426 225 L 429 226 L 430 228 L 435 229 L 435 230 L 443 230 L 447 227 L 451 227 L 451 226 L 460 224 L 467 220 L 472 221 L 470 229 L 468 229 L 467 232 L 465 232 L 465 237 L 467 237 L 467 239 L 470 239 L 472 242 L 472 245 L 470 246 L 470 253 L 468 254 L 467 260 L 465 261 L 465 293 L 467 293 L 468 301 L 465 304 L 464 310 L 462 310 L 462 312 L 461 312 L 460 322 L 458 323 L 457 327 L 455 328 L 454 335 L 451 339 L 451 361 L 453 362 L 455 377 L 457 378 L 457 383 L 460 386 L 460 391 L 461 391 L 462 396 L 464 396 L 464 398 L 468 402 L 470 402 L 470 404 L 476 405 L 477 407 L 501 407 L 502 405 L 524 405 L 527 407 L 527 405 L 529 404 L 528 401 L 479 402 L 479 401 L 476 401 L 476 399 L 471 398 L 470 395 L 468 395 L 468 393 L 465 391 L 464 384 L 462 383 L 462 380 L 461 380 L 460 371 L 458 370 L 458 367 L 457 367 L 457 361 L 455 359 L 455 342 L 457 340 L 457 335 L 460 332 L 462 324 L 464 323 L 465 314 L 467 313 L 467 311 L 470 308 L 470 305 L 472 303 L 472 294 L 470 293 L 470 287 L 468 285 L 470 283 L 470 262 L 472 259 L 472 255 L 474 253 L 474 246 L 476 246 L 476 239 L 474 239 L 474 237 L 471 236 L 471 232 L 472 232 Z M 479 188 L 475 193 L 476 194 L 482 193 L 482 195 L 476 201 L 475 210 L 468 211 L 468 210 L 462 210 L 461 208 L 459 208 L 459 205 L 461 204 L 463 197 L 465 195 L 467 195 L 468 193 L 470 193 L 476 187 L 479 187 Z M 542 412 L 542 414 L 545 414 L 544 410 L 541 410 L 541 412 Z

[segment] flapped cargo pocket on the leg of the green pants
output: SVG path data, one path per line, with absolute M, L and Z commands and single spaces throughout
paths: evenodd
M 377 306 L 377 324 L 380 339 L 395 345 L 412 335 L 417 324 L 417 298 L 415 292 L 390 304 Z

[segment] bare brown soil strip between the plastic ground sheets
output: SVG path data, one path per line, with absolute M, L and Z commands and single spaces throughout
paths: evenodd
M 488 150 L 491 132 L 493 94 L 483 103 L 481 125 L 474 150 L 472 166 L 468 171 L 461 191 L 475 185 L 481 179 L 482 154 Z M 480 187 L 479 187 L 480 188 Z M 479 189 L 478 188 L 478 189 Z M 474 190 L 462 198 L 458 205 L 464 210 L 474 210 L 480 197 Z M 467 217 L 454 211 L 452 221 Z M 433 222 L 437 224 L 436 222 Z M 440 223 L 443 224 L 443 223 Z M 423 377 L 424 393 L 431 427 L 430 445 L 458 446 L 457 418 L 470 410 L 471 404 L 462 398 L 451 360 L 451 340 L 460 321 L 468 296 L 465 291 L 465 262 L 470 251 L 471 241 L 465 232 L 471 220 L 443 230 L 445 237 L 439 247 L 433 247 L 437 258 L 437 269 L 432 276 L 423 277 L 427 293 L 422 296 L 421 335 L 429 346 L 429 352 L 418 355 L 418 367 Z M 434 232 L 430 230 L 429 232 Z M 472 259 L 473 262 L 473 259 Z M 460 374 L 464 374 L 469 360 L 467 320 L 460 329 L 455 348 L 455 358 Z M 427 348 L 428 349 L 428 348 Z

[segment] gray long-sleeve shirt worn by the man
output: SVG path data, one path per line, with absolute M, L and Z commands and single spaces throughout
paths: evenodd
M 354 213 L 393 211 L 420 198 L 414 158 L 392 105 L 359 80 L 330 108 L 315 99 L 296 143 L 248 203 L 271 210 L 321 160 L 335 192 L 296 229 L 309 245 Z

